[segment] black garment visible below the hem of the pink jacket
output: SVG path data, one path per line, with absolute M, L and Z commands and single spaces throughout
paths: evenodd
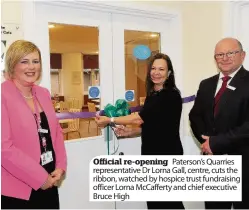
M 59 209 L 59 194 L 57 187 L 47 190 L 32 190 L 30 199 L 23 200 L 9 196 L 1 196 L 2 209 Z

